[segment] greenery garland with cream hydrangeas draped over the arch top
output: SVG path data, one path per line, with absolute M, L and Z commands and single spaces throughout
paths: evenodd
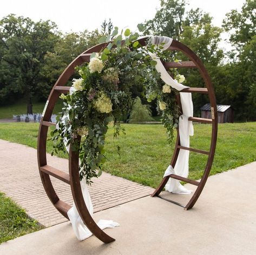
M 142 25 L 138 25 L 142 32 Z M 173 59 L 162 46 L 148 42 L 142 47 L 137 41 L 139 32 L 126 29 L 118 35 L 115 28 L 109 36 L 100 38 L 107 46 L 99 53 L 92 53 L 90 62 L 77 67 L 79 79 L 73 80 L 72 92 L 61 95 L 62 114 L 57 128 L 51 132 L 54 153 L 66 152 L 66 147 L 79 153 L 80 179 L 101 175 L 104 156 L 104 141 L 109 124 L 114 126 L 114 137 L 124 132 L 120 119 L 127 115 L 132 103 L 132 88 L 142 86 L 148 102 L 157 99 L 157 110 L 162 114 L 162 123 L 167 129 L 169 142 L 173 139 L 173 129 L 178 126 L 179 109 L 175 91 L 162 82 L 160 73 L 155 70 L 156 61 L 149 52 L 164 61 Z M 173 70 L 174 78 L 182 83 L 185 77 Z M 80 137 L 84 137 L 81 139 Z M 78 138 L 78 139 L 77 139 Z

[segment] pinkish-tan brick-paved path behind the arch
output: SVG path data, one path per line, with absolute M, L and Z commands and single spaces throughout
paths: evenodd
M 48 157 L 48 164 L 68 172 L 68 160 Z M 51 178 L 60 199 L 73 203 L 70 186 L 56 178 Z M 48 199 L 37 167 L 36 150 L 21 144 L 0 139 L 0 191 L 14 199 L 29 214 L 44 226 L 52 226 L 67 221 Z M 131 200 L 148 196 L 151 187 L 103 173 L 89 187 L 94 212 L 107 209 Z

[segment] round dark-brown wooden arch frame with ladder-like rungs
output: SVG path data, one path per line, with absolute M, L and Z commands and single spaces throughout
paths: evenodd
M 139 43 L 142 46 L 146 45 L 147 37 L 141 38 L 138 40 Z M 64 173 L 58 169 L 55 169 L 54 167 L 51 167 L 47 165 L 47 153 L 46 153 L 46 145 L 47 145 L 47 133 L 48 128 L 51 125 L 55 125 L 54 123 L 50 122 L 52 111 L 54 109 L 55 103 L 60 96 L 61 93 L 68 93 L 70 87 L 65 86 L 65 84 L 68 82 L 71 75 L 73 75 L 75 71 L 75 67 L 77 65 L 81 65 L 84 62 L 89 62 L 90 55 L 93 52 L 99 52 L 102 48 L 106 47 L 107 43 L 102 43 L 99 45 L 94 46 L 93 48 L 88 49 L 87 51 L 84 51 L 81 55 L 79 55 L 77 58 L 74 59 L 73 62 L 71 62 L 68 67 L 63 71 L 61 76 L 58 78 L 57 82 L 55 83 L 54 87 L 52 88 L 50 95 L 47 100 L 47 104 L 45 105 L 45 109 L 43 112 L 43 116 L 40 123 L 39 133 L 38 133 L 38 143 L 37 143 L 37 159 L 38 159 L 38 167 L 40 170 L 40 176 L 42 179 L 42 183 L 44 186 L 44 189 L 51 200 L 52 204 L 56 207 L 56 209 L 68 219 L 68 210 L 71 208 L 70 205 L 63 202 L 58 198 L 54 187 L 52 186 L 51 180 L 49 175 L 58 178 L 62 180 L 65 183 L 70 184 L 71 186 L 71 192 L 73 195 L 74 203 L 76 205 L 77 211 L 80 214 L 84 224 L 88 227 L 88 229 L 101 241 L 104 243 L 109 243 L 111 241 L 114 241 L 115 239 L 108 236 L 105 232 L 103 232 L 99 226 L 94 222 L 93 218 L 91 217 L 86 204 L 84 203 L 83 196 L 82 196 L 82 190 L 80 185 L 80 179 L 79 179 L 79 159 L 78 159 L 78 153 L 69 151 L 69 175 L 67 173 Z M 177 64 L 174 62 L 166 62 L 164 63 L 166 69 L 169 68 L 198 68 L 200 71 L 200 74 L 202 78 L 204 79 L 204 82 L 206 84 L 206 88 L 188 88 L 184 89 L 180 92 L 192 92 L 192 93 L 205 93 L 209 97 L 209 102 L 211 103 L 211 109 L 212 109 L 212 119 L 203 119 L 203 118 L 195 118 L 195 117 L 189 117 L 189 120 L 192 120 L 193 122 L 199 122 L 199 123 L 208 123 L 212 124 L 212 139 L 211 139 L 211 146 L 209 152 L 207 151 L 201 151 L 196 150 L 192 148 L 182 147 L 180 146 L 180 139 L 179 139 L 179 130 L 178 135 L 176 139 L 175 144 L 175 150 L 173 154 L 173 158 L 170 162 L 170 164 L 174 167 L 176 160 L 179 155 L 179 150 L 189 150 L 199 153 L 204 153 L 208 155 L 207 164 L 205 166 L 204 175 L 202 176 L 200 182 L 196 182 L 194 180 L 189 180 L 187 178 L 183 178 L 176 175 L 170 175 L 165 178 L 163 178 L 161 184 L 155 192 L 152 194 L 152 196 L 159 196 L 160 192 L 162 191 L 163 187 L 167 183 L 169 178 L 175 178 L 178 180 L 185 181 L 187 183 L 194 184 L 197 187 L 195 190 L 193 197 L 191 200 L 189 200 L 188 204 L 186 206 L 183 206 L 185 210 L 191 209 L 193 205 L 195 204 L 196 200 L 199 198 L 202 190 L 204 189 L 206 180 L 208 178 L 209 172 L 212 167 L 214 153 L 215 153 L 215 147 L 216 147 L 216 138 L 217 138 L 217 125 L 218 125 L 218 117 L 217 117 L 217 109 L 216 109 L 216 100 L 214 95 L 214 89 L 211 82 L 211 79 L 208 76 L 207 70 L 205 66 L 200 61 L 199 57 L 195 55 L 195 53 L 189 49 L 186 45 L 182 44 L 181 42 L 178 42 L 176 40 L 173 40 L 172 45 L 169 47 L 168 50 L 178 50 L 183 52 L 191 61 L 188 62 L 181 62 L 181 64 Z M 177 97 L 178 103 L 179 103 L 179 97 Z M 180 205 L 179 203 L 176 203 L 174 201 L 170 201 L 175 204 Z M 182 205 L 181 205 L 182 206 Z

